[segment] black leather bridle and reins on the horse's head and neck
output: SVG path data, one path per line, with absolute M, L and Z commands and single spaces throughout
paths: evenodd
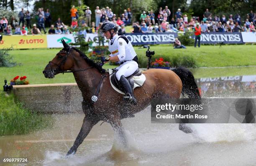
M 57 56 L 58 56 L 59 54 L 65 54 L 64 56 L 59 56 L 59 57 L 63 58 L 60 64 L 56 64 L 56 63 L 54 63 L 54 62 L 52 62 L 52 61 L 49 61 L 49 64 L 52 63 L 52 64 L 55 64 L 56 66 L 59 67 L 59 70 L 51 69 L 54 74 L 58 74 L 58 73 L 64 74 L 64 73 L 81 72 L 81 71 L 85 71 L 85 70 L 88 70 L 88 69 L 90 69 L 90 68 L 93 67 L 93 66 L 90 66 L 90 67 L 88 67 L 88 68 L 86 68 L 86 69 L 74 70 L 74 71 L 64 71 L 64 70 L 61 70 L 61 66 L 62 66 L 62 65 L 63 65 L 62 69 L 64 69 L 64 65 L 65 65 L 65 63 L 66 63 L 66 61 L 67 61 L 67 58 L 68 58 L 69 53 L 70 53 L 71 50 L 72 50 L 72 47 L 69 47 L 69 51 L 60 50 L 60 51 L 56 54 Z

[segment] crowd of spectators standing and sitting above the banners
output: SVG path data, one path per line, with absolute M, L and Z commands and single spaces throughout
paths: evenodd
M 161 32 L 192 32 L 196 27 L 200 26 L 201 33 L 209 32 L 256 32 L 256 14 L 250 11 L 246 15 L 246 20 L 241 20 L 241 16 L 236 14 L 228 15 L 212 15 L 212 13 L 206 9 L 203 13 L 203 18 L 199 17 L 188 18 L 187 14 L 182 13 L 180 9 L 175 12 L 174 17 L 171 18 L 171 11 L 168 6 L 165 8 L 159 8 L 157 13 L 152 10 L 149 12 L 143 11 L 140 18 L 136 22 L 132 22 L 131 9 L 123 10 L 123 13 L 116 15 L 111 8 L 99 8 L 94 10 L 95 22 L 92 22 L 92 11 L 90 7 L 84 10 L 84 19 L 78 22 L 78 10 L 75 6 L 70 9 L 70 26 L 64 24 L 61 18 L 58 18 L 54 23 L 51 20 L 51 13 L 49 9 L 44 11 L 44 8 L 39 8 L 35 18 L 37 23 L 31 26 L 31 13 L 27 10 L 24 11 L 21 8 L 18 13 L 19 20 L 11 18 L 10 22 L 3 16 L 0 20 L 0 32 L 4 35 L 27 35 L 27 34 L 42 34 L 44 31 L 46 34 L 46 27 L 49 27 L 48 34 L 69 34 L 71 30 L 81 26 L 84 30 L 79 31 L 79 34 L 86 33 L 98 33 L 102 23 L 111 21 L 118 26 L 118 34 L 123 35 L 125 32 L 125 26 L 132 26 L 132 30 L 128 33 L 161 33 Z M 20 25 L 22 26 L 20 27 Z M 14 33 L 12 29 L 15 29 Z M 30 29 L 30 31 L 29 31 Z

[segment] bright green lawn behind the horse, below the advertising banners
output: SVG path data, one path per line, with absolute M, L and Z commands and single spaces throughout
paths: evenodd
M 134 47 L 136 53 L 144 61 L 147 61 L 146 49 Z M 197 61 L 198 67 L 219 67 L 219 66 L 256 66 L 256 46 L 255 45 L 226 45 L 201 46 L 201 48 L 187 47 L 187 49 L 173 49 L 171 45 L 151 46 L 151 51 L 155 51 L 155 57 L 165 56 L 192 56 Z M 46 64 L 54 58 L 59 49 L 27 49 L 13 50 L 10 54 L 14 60 L 21 63 L 21 66 L 1 67 L 0 81 L 6 78 L 8 82 L 13 77 L 27 76 L 30 84 L 50 84 L 50 83 L 70 83 L 75 82 L 73 74 L 57 74 L 54 79 L 46 79 L 42 71 Z M 108 64 L 105 69 L 113 68 Z M 236 75 L 256 74 L 256 67 L 245 68 L 225 68 L 225 69 L 192 69 L 195 77 L 221 77 Z

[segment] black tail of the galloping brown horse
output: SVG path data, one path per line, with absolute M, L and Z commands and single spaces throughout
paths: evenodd
M 182 80 L 182 94 L 187 94 L 189 98 L 201 98 L 195 78 L 189 69 L 181 66 L 172 71 Z

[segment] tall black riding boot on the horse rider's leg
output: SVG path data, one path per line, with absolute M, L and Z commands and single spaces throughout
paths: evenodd
M 133 89 L 131 88 L 130 83 L 124 77 L 124 75 L 121 76 L 119 82 L 123 85 L 123 87 L 125 89 L 125 93 L 126 93 L 126 96 L 124 96 L 123 99 L 126 100 L 126 101 L 129 100 L 129 101 L 131 101 L 132 104 L 136 105 L 137 104 L 137 100 L 134 97 Z

